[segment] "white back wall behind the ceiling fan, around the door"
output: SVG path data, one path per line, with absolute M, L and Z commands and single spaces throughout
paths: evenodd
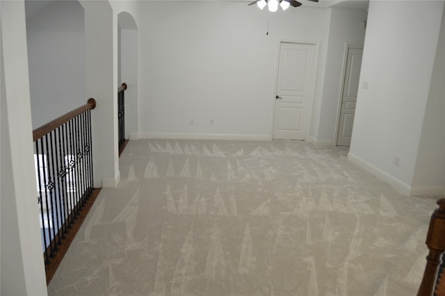
M 321 98 L 329 9 L 268 13 L 244 2 L 142 1 L 140 15 L 143 134 L 268 138 L 279 40 L 319 42 L 315 101 Z

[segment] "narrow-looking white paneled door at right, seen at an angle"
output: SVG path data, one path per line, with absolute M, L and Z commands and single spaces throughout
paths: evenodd
M 355 103 L 359 89 L 362 56 L 362 47 L 348 47 L 343 76 L 343 90 L 341 92 L 339 129 L 337 131 L 338 146 L 349 146 L 350 137 L 353 135 Z

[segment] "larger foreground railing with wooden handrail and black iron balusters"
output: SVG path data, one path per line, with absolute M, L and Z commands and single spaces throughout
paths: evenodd
M 95 107 L 95 99 L 88 99 L 87 104 L 33 131 L 47 283 L 99 193 L 93 186 L 92 171 L 90 110 Z

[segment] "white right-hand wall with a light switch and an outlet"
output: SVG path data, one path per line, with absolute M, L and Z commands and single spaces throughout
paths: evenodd
M 350 159 L 409 193 L 443 1 L 371 1 Z M 400 158 L 400 165 L 395 164 Z

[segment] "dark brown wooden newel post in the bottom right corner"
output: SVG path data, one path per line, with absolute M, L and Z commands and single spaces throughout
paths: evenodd
M 426 267 L 417 296 L 431 296 L 434 293 L 441 256 L 445 252 L 445 199 L 437 201 L 437 208 L 431 215 L 426 245 L 430 252 L 426 256 Z

